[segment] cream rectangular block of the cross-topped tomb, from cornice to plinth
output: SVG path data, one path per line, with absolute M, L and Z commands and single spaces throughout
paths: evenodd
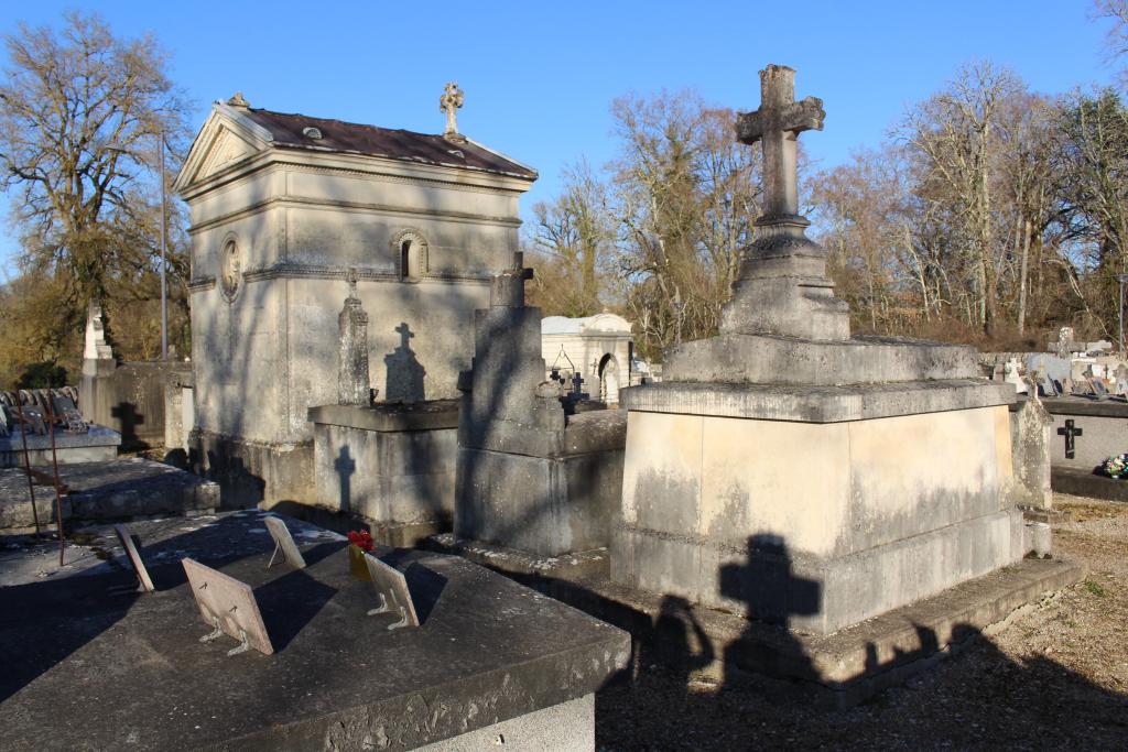
M 613 580 L 829 634 L 1011 564 L 1006 399 L 963 380 L 625 390 Z

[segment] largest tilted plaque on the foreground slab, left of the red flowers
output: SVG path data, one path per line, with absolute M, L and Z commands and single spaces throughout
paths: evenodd
M 214 628 L 200 642 L 210 643 L 227 634 L 240 643 L 228 651 L 228 655 L 246 653 L 250 648 L 273 655 L 274 646 L 266 634 L 266 625 L 250 585 L 190 558 L 184 558 L 183 564 L 192 595 L 200 607 L 200 616 Z

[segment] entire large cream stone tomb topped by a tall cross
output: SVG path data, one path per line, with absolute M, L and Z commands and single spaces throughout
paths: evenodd
M 795 138 L 821 103 L 760 73 L 738 138 L 764 142 L 765 215 L 720 335 L 667 352 L 629 412 L 611 580 L 835 632 L 1025 554 L 1011 384 L 973 348 L 851 337 L 797 215 Z

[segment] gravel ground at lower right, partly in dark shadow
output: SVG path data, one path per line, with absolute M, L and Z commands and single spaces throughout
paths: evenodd
M 1128 504 L 1055 496 L 1055 552 L 1085 581 L 849 710 L 650 664 L 596 696 L 600 750 L 1128 750 Z M 786 697 L 786 695 L 784 696 Z

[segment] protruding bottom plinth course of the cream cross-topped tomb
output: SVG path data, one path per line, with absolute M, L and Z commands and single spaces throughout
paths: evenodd
M 746 550 L 702 538 L 624 527 L 615 534 L 616 582 L 640 589 L 652 572 L 678 573 L 658 590 L 749 618 L 827 635 L 1022 558 L 1019 510 L 820 559 L 765 541 Z M 653 589 L 653 587 L 650 587 Z

